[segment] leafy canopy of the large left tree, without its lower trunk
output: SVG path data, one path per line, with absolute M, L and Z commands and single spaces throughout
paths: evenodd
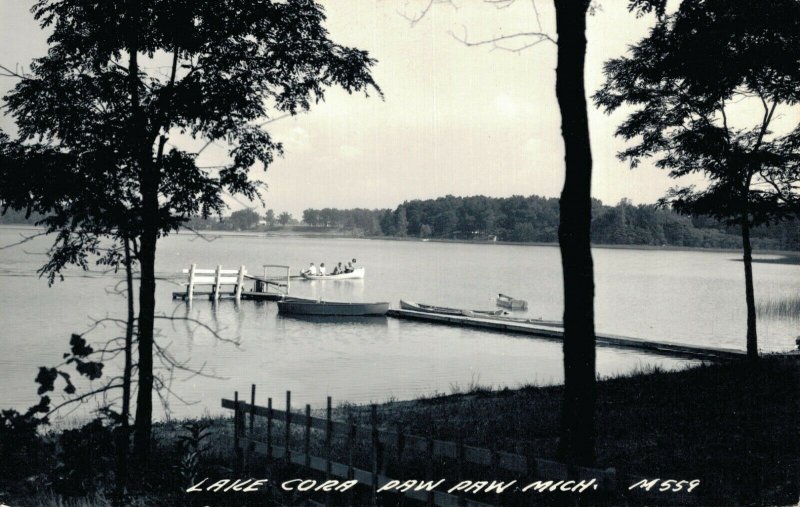
M 39 0 L 32 11 L 52 29 L 50 47 L 5 97 L 20 142 L 0 139 L 17 161 L 0 170 L 0 198 L 49 214 L 52 230 L 139 230 L 142 146 L 158 166 L 161 234 L 219 213 L 222 192 L 257 198 L 248 171 L 282 153 L 257 121 L 307 110 L 333 85 L 380 93 L 375 61 L 332 42 L 308 0 Z M 186 136 L 226 143 L 230 162 L 198 167 L 176 146 Z

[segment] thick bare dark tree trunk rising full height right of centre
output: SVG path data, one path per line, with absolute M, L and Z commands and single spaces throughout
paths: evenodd
M 564 400 L 559 455 L 590 465 L 595 452 L 594 274 L 590 231 L 592 154 L 583 73 L 589 0 L 556 0 L 556 96 L 566 150 L 558 240 L 564 277 Z

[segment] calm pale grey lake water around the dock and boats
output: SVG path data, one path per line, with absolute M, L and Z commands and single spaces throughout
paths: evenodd
M 0 228 L 0 245 L 31 232 Z M 37 238 L 0 250 L 0 408 L 25 408 L 36 400 L 37 368 L 60 361 L 70 333 L 87 330 L 95 319 L 124 317 L 125 300 L 113 294 L 121 275 L 73 269 L 53 287 L 38 278 L 36 269 L 44 263 L 49 244 L 48 238 Z M 744 348 L 744 275 L 737 252 L 596 248 L 593 253 L 598 332 Z M 296 273 L 310 261 L 332 266 L 352 257 L 366 267 L 365 280 L 293 280 L 292 294 L 390 301 L 392 306 L 403 298 L 493 308 L 493 296 L 503 292 L 528 300 L 531 317 L 561 319 L 561 266 L 555 247 L 256 235 L 206 241 L 173 235 L 159 243 L 157 270 L 164 279 L 158 285 L 160 314 L 197 319 L 239 345 L 220 341 L 185 319 L 158 322 L 158 342 L 172 357 L 217 377 L 162 371 L 175 393 L 168 397 L 171 414 L 220 413 L 220 398 L 232 397 L 237 389 L 249 393 L 251 383 L 257 385 L 259 401 L 267 396 L 282 400 L 292 390 L 298 405 L 319 406 L 325 396 L 334 402 L 386 401 L 476 383 L 514 387 L 562 381 L 561 346 L 556 342 L 384 318 L 318 324 L 278 316 L 274 303 L 212 304 L 200 299 L 190 308 L 171 298 L 172 291 L 182 289 L 180 270 L 193 262 L 199 267 L 244 264 L 255 274 L 263 264 L 286 264 Z M 800 292 L 800 266 L 756 263 L 754 271 L 757 299 Z M 798 321 L 762 317 L 758 331 L 762 351 L 787 350 L 798 334 Z M 106 324 L 86 337 L 101 342 L 121 334 Z M 682 364 L 598 350 L 601 375 Z M 163 407 L 159 413 L 163 416 Z

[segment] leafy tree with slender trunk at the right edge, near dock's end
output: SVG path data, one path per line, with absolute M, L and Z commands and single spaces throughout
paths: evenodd
M 783 136 L 771 132 L 778 107 L 800 101 L 798 24 L 798 0 L 768 9 L 685 0 L 630 56 L 606 63 L 607 81 L 594 96 L 608 112 L 638 108 L 616 132 L 636 141 L 619 154 L 631 167 L 657 157 L 656 167 L 674 178 L 708 179 L 702 190 L 673 188 L 662 204 L 740 228 L 750 358 L 758 357 L 751 231 L 800 210 L 800 124 Z M 760 103 L 762 112 L 741 113 L 743 101 Z

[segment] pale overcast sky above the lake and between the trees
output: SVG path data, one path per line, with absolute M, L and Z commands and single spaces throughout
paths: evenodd
M 446 194 L 558 196 L 564 154 L 555 45 L 515 53 L 466 47 L 453 37 L 479 41 L 538 30 L 534 4 L 518 0 L 497 9 L 454 1 L 457 8 L 435 5 L 413 26 L 402 14 L 419 14 L 427 0 L 323 2 L 331 38 L 378 60 L 374 76 L 385 99 L 332 91 L 311 112 L 269 125 L 286 154 L 257 174 L 269 185 L 267 208 L 297 216 L 309 207 L 395 207 Z M 45 35 L 28 12 L 32 3 L 0 0 L 0 63 L 6 66 L 27 65 L 46 51 Z M 623 54 L 652 23 L 628 13 L 626 1 L 601 4 L 587 30 L 589 93 L 601 83 L 603 62 Z M 555 37 L 552 2 L 535 6 L 542 29 Z M 0 91 L 13 84 L 0 78 Z M 612 133 L 621 115 L 591 108 L 589 119 L 595 197 L 653 202 L 674 184 L 648 164 L 631 170 L 616 159 L 623 144 Z M 11 129 L 10 118 L 0 118 L 0 126 Z M 224 154 L 212 145 L 200 164 L 222 164 Z

